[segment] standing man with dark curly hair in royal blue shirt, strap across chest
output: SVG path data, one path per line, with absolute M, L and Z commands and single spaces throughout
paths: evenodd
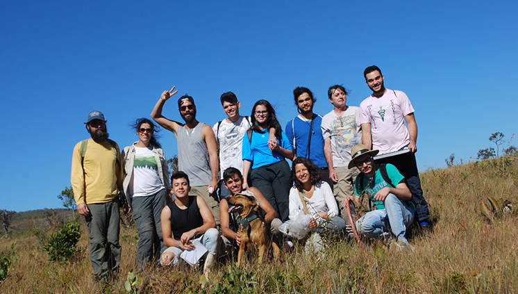
M 322 136 L 322 117 L 313 113 L 313 105 L 317 101 L 313 93 L 306 87 L 297 87 L 293 90 L 293 96 L 299 115 L 287 122 L 285 133 L 292 142 L 295 159 L 306 157 L 315 163 L 323 181 L 329 184 L 333 190 L 334 182 L 329 177 L 329 169 L 324 156 L 324 136 Z

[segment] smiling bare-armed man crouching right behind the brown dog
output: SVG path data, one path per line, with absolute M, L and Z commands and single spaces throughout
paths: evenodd
M 269 228 L 269 233 L 274 237 L 274 242 L 278 244 L 281 240 L 281 232 L 278 230 L 278 227 L 281 226 L 283 222 L 276 218 L 277 213 L 275 209 L 271 206 L 265 196 L 262 195 L 260 190 L 253 187 L 243 190 L 243 176 L 237 168 L 227 168 L 223 172 L 223 181 L 224 185 L 231 193 L 231 196 L 229 197 L 242 194 L 257 199 L 259 208 L 265 213 L 262 217 L 264 225 L 266 228 Z M 232 248 L 231 240 L 235 240 L 237 246 L 241 244 L 241 235 L 237 232 L 237 227 L 235 227 L 238 226 L 237 224 L 232 224 L 233 229 L 231 229 L 231 215 L 229 215 L 227 200 L 228 197 L 222 199 L 219 203 L 219 213 L 222 220 L 223 242 L 228 251 Z M 232 211 L 230 213 L 232 213 Z

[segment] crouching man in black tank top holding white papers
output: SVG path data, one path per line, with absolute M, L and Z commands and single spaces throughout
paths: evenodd
M 172 174 L 171 182 L 176 199 L 162 209 L 160 222 L 167 250 L 160 256 L 162 266 L 176 266 L 184 250 L 193 250 L 194 239 L 208 250 L 203 266 L 207 275 L 216 260 L 219 232 L 216 222 L 203 197 L 189 195 L 189 176 L 178 171 Z

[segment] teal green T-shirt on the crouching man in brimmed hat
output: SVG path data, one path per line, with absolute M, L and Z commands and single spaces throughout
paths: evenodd
M 389 177 L 390 181 L 392 181 L 392 184 L 394 186 L 397 186 L 399 183 L 401 183 L 401 181 L 403 181 L 403 179 L 405 179 L 405 177 L 403 177 L 403 174 L 401 174 L 394 165 L 387 163 L 386 167 L 387 176 Z M 376 193 L 378 193 L 379 190 L 385 187 L 392 187 L 383 179 L 383 177 L 381 176 L 380 169 L 378 168 L 378 170 L 376 170 L 376 174 L 374 174 L 373 178 L 366 177 L 365 174 L 363 175 L 363 191 L 360 192 L 358 192 L 358 190 L 360 190 L 360 183 L 358 183 L 358 177 L 360 177 L 359 174 L 356 177 L 356 181 L 354 183 L 354 195 L 360 196 L 361 193 L 365 193 L 365 195 L 369 196 L 372 204 L 374 204 L 376 209 L 385 209 L 383 201 L 374 200 L 374 195 L 376 195 Z M 411 201 L 401 200 L 401 202 L 406 202 L 408 206 L 415 209 L 415 205 Z

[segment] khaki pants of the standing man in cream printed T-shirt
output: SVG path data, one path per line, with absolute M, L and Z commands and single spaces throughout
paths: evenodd
M 338 182 L 334 186 L 335 199 L 340 208 L 340 216 L 345 220 L 345 229 L 348 233 L 352 232 L 351 223 L 349 222 L 349 214 L 344 207 L 344 199 L 346 196 L 354 195 L 354 181 L 360 173 L 358 168 L 347 168 L 346 166 L 335 168 Z

